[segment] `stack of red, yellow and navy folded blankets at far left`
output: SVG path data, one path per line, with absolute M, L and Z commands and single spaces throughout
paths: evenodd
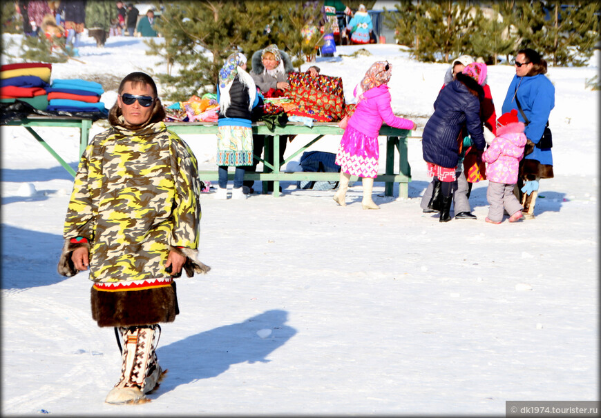
M 35 109 L 48 108 L 52 64 L 15 63 L 1 66 L 0 103 L 24 101 Z

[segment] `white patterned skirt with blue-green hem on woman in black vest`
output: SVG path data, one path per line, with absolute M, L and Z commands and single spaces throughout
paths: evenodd
M 217 131 L 217 165 L 251 166 L 253 131 L 245 126 L 220 126 Z

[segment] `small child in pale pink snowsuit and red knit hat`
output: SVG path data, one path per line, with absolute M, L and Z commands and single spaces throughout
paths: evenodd
M 488 223 L 501 223 L 503 210 L 509 215 L 509 221 L 515 222 L 522 218 L 522 205 L 513 194 L 517 183 L 519 160 L 524 158 L 524 123 L 517 119 L 517 110 L 504 113 L 497 120 L 497 137 L 484 154 L 482 161 L 488 163 L 486 177 L 488 177 Z

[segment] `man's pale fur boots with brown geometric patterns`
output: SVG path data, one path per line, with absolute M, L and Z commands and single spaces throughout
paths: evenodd
M 119 331 L 124 341 L 121 379 L 104 401 L 108 404 L 133 404 L 143 401 L 144 394 L 157 388 L 164 375 L 155 353 L 160 326 L 121 327 Z

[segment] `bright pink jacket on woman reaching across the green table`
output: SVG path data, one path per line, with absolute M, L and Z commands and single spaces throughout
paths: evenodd
M 370 88 L 363 93 L 363 100 L 357 105 L 348 124 L 370 138 L 378 136 L 382 121 L 393 128 L 412 129 L 412 121 L 394 116 L 390 100 L 386 84 Z

